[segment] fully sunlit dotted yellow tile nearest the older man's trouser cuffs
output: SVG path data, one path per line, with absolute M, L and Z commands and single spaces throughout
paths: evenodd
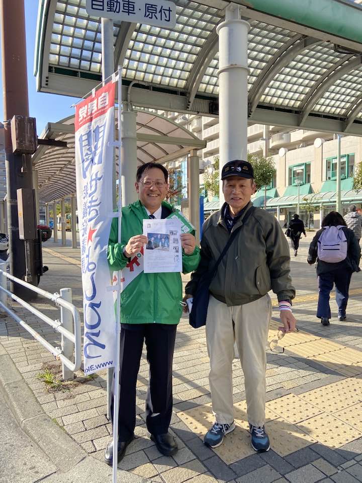
M 277 413 L 292 424 L 300 423 L 322 413 L 316 406 L 313 406 L 294 394 L 287 394 L 279 399 L 268 401 L 266 408 Z

